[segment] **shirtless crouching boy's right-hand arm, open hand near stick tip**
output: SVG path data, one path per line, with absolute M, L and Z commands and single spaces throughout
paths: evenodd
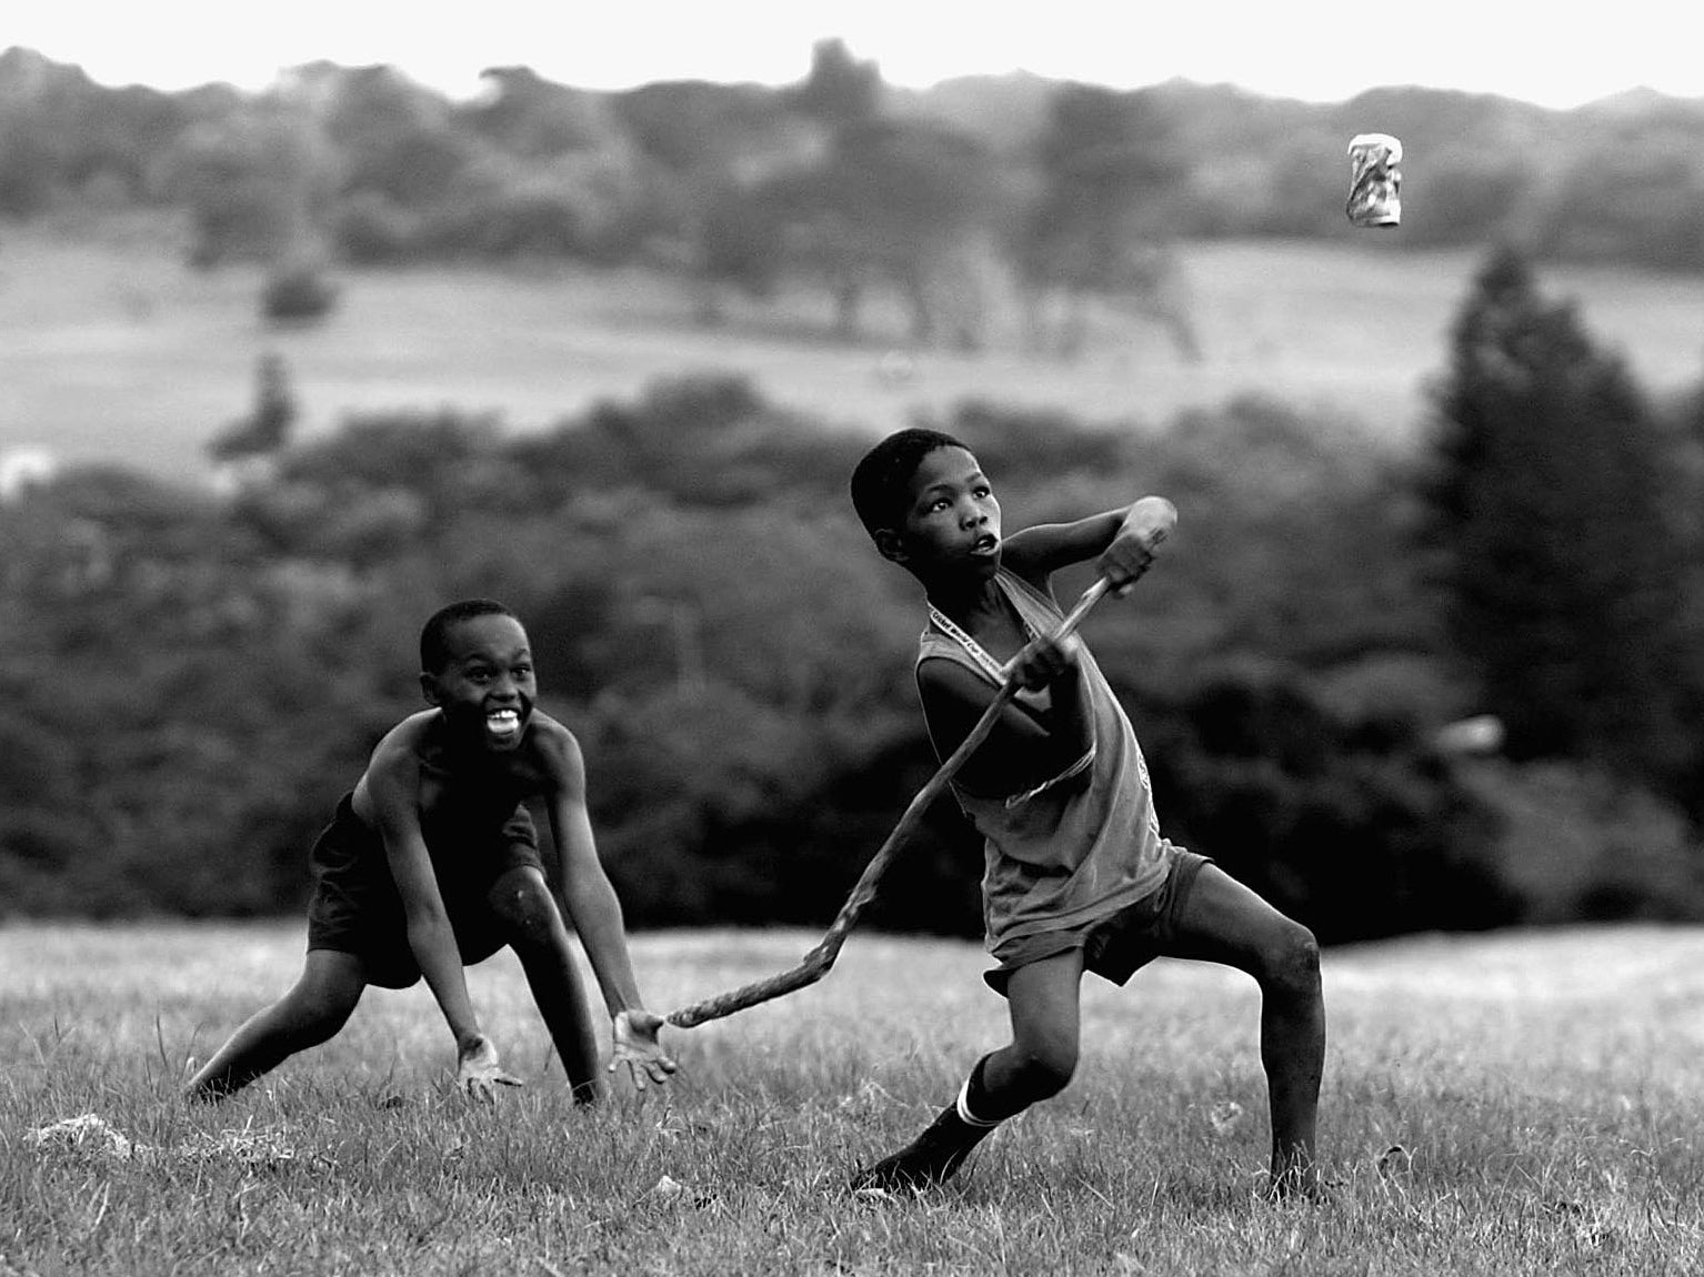
M 542 725 L 542 724 L 540 724 Z M 556 838 L 557 858 L 562 863 L 562 904 L 579 933 L 579 942 L 591 962 L 591 972 L 603 991 L 603 1005 L 613 1022 L 615 1057 L 627 1064 L 634 1085 L 644 1079 L 661 1083 L 675 1071 L 659 1042 L 663 1016 L 644 1008 L 639 981 L 634 977 L 632 957 L 627 952 L 627 925 L 622 904 L 615 896 L 603 862 L 598 860 L 591 834 L 591 816 L 586 809 L 586 764 L 579 742 L 561 724 L 540 730 L 538 751 L 544 759 L 550 788 L 547 793 L 550 833 Z

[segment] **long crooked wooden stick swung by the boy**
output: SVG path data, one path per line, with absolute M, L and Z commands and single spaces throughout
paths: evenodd
M 1053 633 L 1053 642 L 1063 640 L 1070 635 L 1080 623 L 1082 618 L 1089 615 L 1089 608 L 1101 601 L 1101 596 L 1111 587 L 1106 577 L 1099 577 L 1089 589 L 1082 593 L 1075 606 L 1067 613 L 1065 620 L 1060 621 L 1060 628 Z M 867 906 L 876 897 L 876 884 L 881 875 L 893 863 L 893 858 L 900 853 L 905 843 L 917 831 L 918 822 L 924 819 L 924 812 L 929 805 L 946 790 L 947 782 L 958 775 L 958 770 L 964 766 L 964 759 L 976 753 L 983 741 L 988 739 L 988 732 L 993 730 L 995 719 L 1000 717 L 1000 710 L 1005 703 L 1012 700 L 1017 693 L 1017 679 L 1012 678 L 1012 667 L 1017 664 L 1017 657 L 1007 661 L 1005 681 L 1000 690 L 993 695 L 988 708 L 982 712 L 976 725 L 970 729 L 970 734 L 959 742 L 959 747 L 953 751 L 941 770 L 929 778 L 917 797 L 912 799 L 910 807 L 900 817 L 900 822 L 888 834 L 888 841 L 881 845 L 871 862 L 864 867 L 864 873 L 859 877 L 857 884 L 852 887 L 852 894 L 847 896 L 847 902 L 840 906 L 840 913 L 835 914 L 835 921 L 830 925 L 828 931 L 823 935 L 821 942 L 813 948 L 792 971 L 784 971 L 779 976 L 770 976 L 767 979 L 755 981 L 731 993 L 717 994 L 716 998 L 705 998 L 692 1006 L 682 1006 L 668 1016 L 668 1023 L 676 1028 L 692 1028 L 702 1025 L 705 1020 L 721 1020 L 724 1015 L 733 1015 L 734 1011 L 745 1011 L 758 1003 L 772 1001 L 784 994 L 803 989 L 806 984 L 815 984 L 828 969 L 835 965 L 835 959 L 840 955 L 840 945 L 845 943 L 847 933 L 857 923 L 864 906 Z

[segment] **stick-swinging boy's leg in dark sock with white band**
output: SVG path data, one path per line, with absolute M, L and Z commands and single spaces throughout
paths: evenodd
M 1038 1100 L 1058 1095 L 1077 1069 L 1082 950 L 1026 964 L 1005 994 L 1012 1042 L 976 1061 L 958 1102 L 898 1153 L 859 1171 L 852 1188 L 925 1188 L 944 1183 L 993 1129 Z

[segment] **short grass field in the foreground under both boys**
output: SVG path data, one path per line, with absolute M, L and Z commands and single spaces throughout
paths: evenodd
M 659 1010 L 799 933 L 636 940 Z M 1704 931 L 1418 938 L 1326 955 L 1321 1204 L 1263 1202 L 1252 982 L 1085 986 L 1084 1062 L 946 1190 L 840 1192 L 995 1044 L 980 952 L 859 935 L 826 981 L 675 1034 L 663 1093 L 574 1112 L 518 967 L 508 1061 L 446 1088 L 423 988 L 223 1108 L 176 1088 L 300 962 L 293 925 L 0 928 L 0 1274 L 1697 1274 Z M 95 1114 L 133 1141 L 41 1144 Z M 1392 1146 L 1402 1153 L 1384 1156 Z M 1382 1166 L 1380 1166 L 1382 1161 Z

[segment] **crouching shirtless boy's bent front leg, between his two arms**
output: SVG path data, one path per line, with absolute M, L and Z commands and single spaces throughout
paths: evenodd
M 567 923 L 544 873 L 533 865 L 504 870 L 486 899 L 499 935 L 521 960 L 527 986 L 562 1057 L 574 1100 L 591 1103 L 600 1093 L 598 1039 L 574 965 Z

